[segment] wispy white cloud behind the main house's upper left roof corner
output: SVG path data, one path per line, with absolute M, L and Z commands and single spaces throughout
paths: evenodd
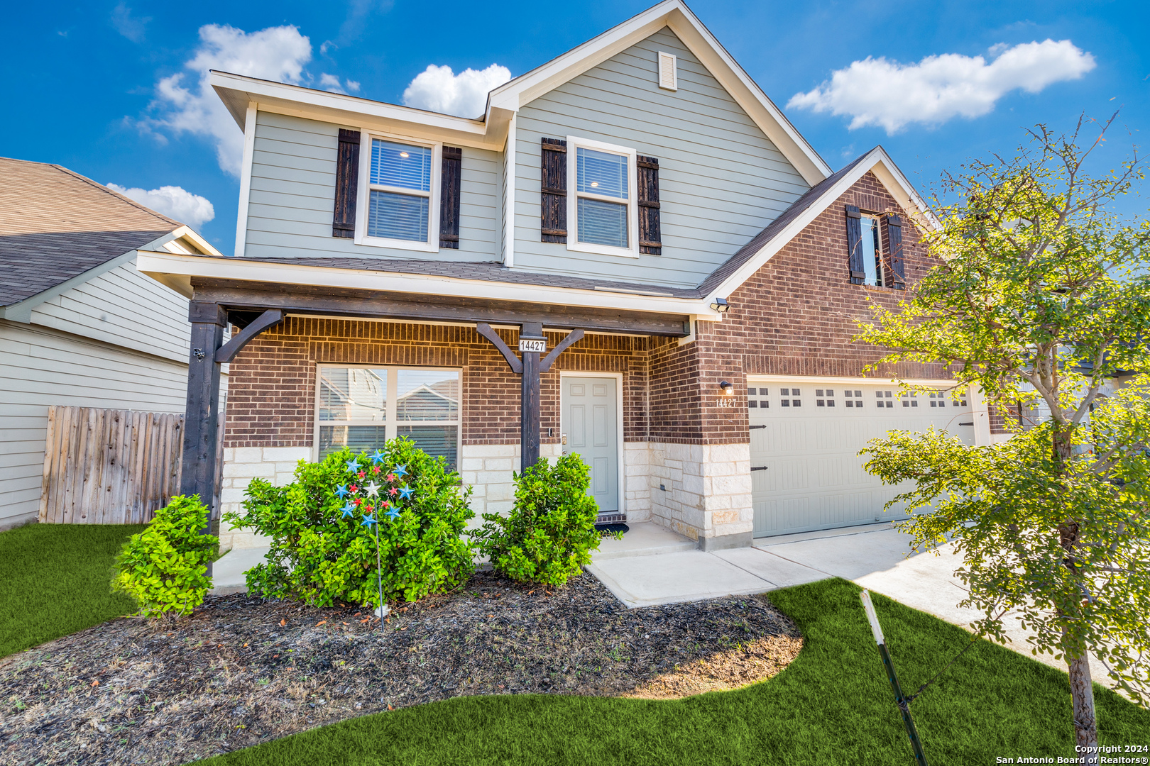
M 152 105 L 160 114 L 143 121 L 140 126 L 159 131 L 161 136 L 170 131 L 210 138 L 220 168 L 238 177 L 244 133 L 208 85 L 208 70 L 300 84 L 305 79 L 304 64 L 310 60 L 312 42 L 294 26 L 245 32 L 233 26 L 207 24 L 200 28 L 199 47 L 184 64 L 197 82 L 185 85 L 184 72 L 161 79 Z

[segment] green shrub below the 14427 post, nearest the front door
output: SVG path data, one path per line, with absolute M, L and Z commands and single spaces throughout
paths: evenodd
M 586 494 L 590 469 L 578 455 L 554 466 L 542 459 L 515 477 L 515 506 L 509 516 L 484 513 L 471 533 L 492 567 L 520 582 L 561 586 L 590 564 L 599 547 L 595 520 L 599 508 Z

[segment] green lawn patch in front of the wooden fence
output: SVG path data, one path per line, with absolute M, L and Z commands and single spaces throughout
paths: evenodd
M 113 559 L 145 525 L 29 524 L 0 532 L 0 657 L 136 611 Z

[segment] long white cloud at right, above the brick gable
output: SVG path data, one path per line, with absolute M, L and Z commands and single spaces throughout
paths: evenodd
M 1037 93 L 1095 68 L 1094 56 L 1070 40 L 1023 42 L 990 48 L 996 56 L 948 53 L 917 64 L 885 59 L 856 61 L 808 93 L 796 93 L 788 108 L 850 115 L 850 127 L 879 125 L 895 133 L 910 123 L 938 124 L 952 117 L 989 113 L 1006 93 Z

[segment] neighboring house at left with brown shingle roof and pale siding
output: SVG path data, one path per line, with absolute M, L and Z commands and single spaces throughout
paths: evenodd
M 40 503 L 51 405 L 184 412 L 187 299 L 136 250 L 217 256 L 60 165 L 0 158 L 0 529 Z

